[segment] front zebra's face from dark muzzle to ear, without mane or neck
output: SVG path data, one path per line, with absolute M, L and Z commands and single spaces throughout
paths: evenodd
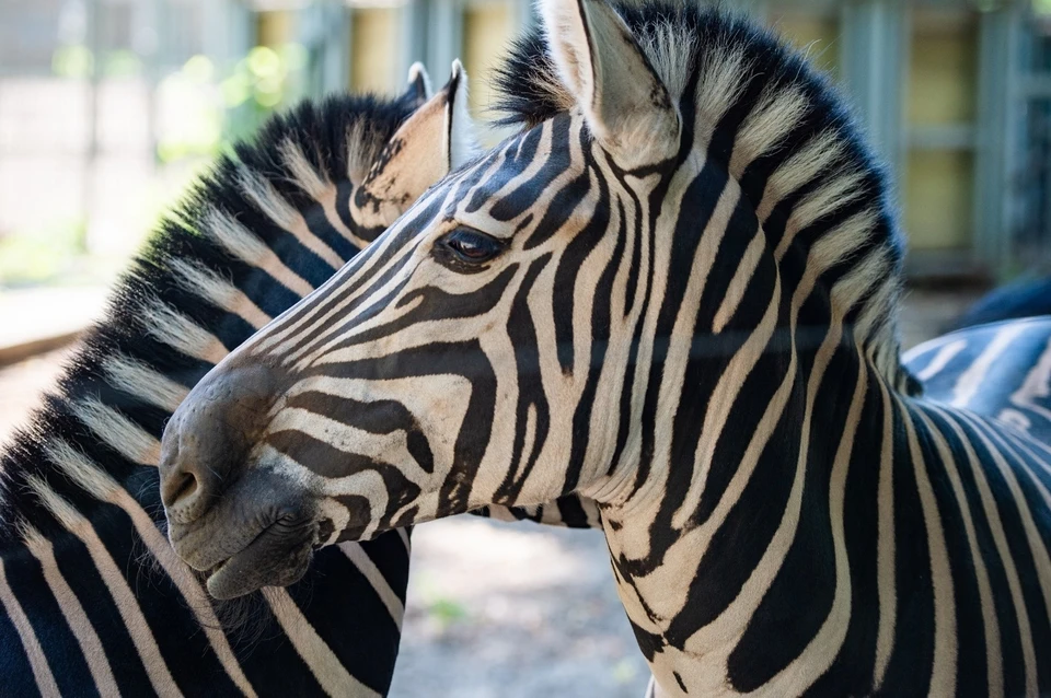
M 596 7 L 619 70 L 564 66 L 589 106 L 447 177 L 183 404 L 163 477 L 190 565 L 274 536 L 268 561 L 294 572 L 310 545 L 588 492 L 637 457 L 627 367 L 646 364 L 633 336 L 669 253 L 654 232 L 677 198 L 679 114 L 623 21 Z M 221 486 L 185 477 L 200 458 Z

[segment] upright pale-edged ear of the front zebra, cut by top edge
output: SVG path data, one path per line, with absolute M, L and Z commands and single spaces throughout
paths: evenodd
M 604 0 L 540 0 L 558 74 L 591 133 L 627 168 L 679 148 L 679 114 L 624 20 Z

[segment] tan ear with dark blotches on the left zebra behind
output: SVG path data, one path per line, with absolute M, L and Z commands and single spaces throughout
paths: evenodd
M 466 74 L 460 61 L 453 61 L 446 86 L 405 119 L 383 147 L 357 196 L 385 224 L 473 155 L 474 125 L 466 96 Z

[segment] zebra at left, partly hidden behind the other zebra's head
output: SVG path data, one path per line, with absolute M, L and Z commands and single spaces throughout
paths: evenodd
M 0 455 L 0 695 L 386 693 L 408 532 L 322 551 L 246 609 L 212 604 L 158 528 L 159 439 L 229 349 L 467 156 L 449 130 L 465 80 L 457 63 L 431 96 L 417 65 L 399 98 L 305 103 L 163 221 Z

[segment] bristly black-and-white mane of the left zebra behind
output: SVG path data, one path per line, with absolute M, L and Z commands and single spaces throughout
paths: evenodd
M 157 439 L 161 433 L 170 412 L 157 402 L 166 397 L 163 393 L 170 382 L 194 385 L 211 368 L 208 352 L 229 351 L 257 329 L 231 310 L 231 303 L 240 299 L 222 293 L 240 289 L 268 316 L 298 301 L 296 290 L 270 275 L 258 274 L 265 267 L 256 266 L 256 260 L 269 257 L 266 251 L 311 287 L 320 286 L 335 271 L 268 216 L 261 203 L 268 207 L 285 201 L 296 213 L 315 206 L 299 184 L 296 166 L 300 162 L 333 183 L 347 179 L 348 173 L 363 178 L 369 163 L 411 113 L 412 105 L 373 97 L 304 103 L 272 119 L 254 142 L 238 143 L 231 154 L 219 158 L 131 261 L 112 291 L 105 316 L 81 340 L 57 389 L 45 396 L 44 406 L 7 445 L 0 461 L 0 540 L 18 539 L 13 524 L 19 521 L 41 527 L 43 533 L 58 532 L 50 527 L 56 522 L 41 509 L 38 498 L 26 491 L 27 477 L 41 477 L 56 493 L 80 503 L 84 492 L 68 479 L 54 477 L 56 468 L 47 447 L 56 439 L 76 444 L 96 463 L 105 463 L 111 476 L 143 498 L 143 505 L 160 505 L 153 491 L 154 470 L 143 469 L 127 457 L 129 449 L 147 446 L 147 434 Z M 302 161 L 287 153 L 301 155 Z M 349 189 L 349 183 L 340 186 Z M 337 201 L 344 199 L 337 194 Z M 343 219 L 353 226 L 348 216 Z M 217 233 L 223 223 L 233 225 Z M 330 228 L 326 221 L 315 217 L 307 223 L 340 257 L 355 254 L 351 243 L 339 244 L 343 235 L 325 230 Z M 253 254 L 255 259 L 245 261 L 244 257 Z M 249 277 L 252 286 L 242 287 L 240 282 Z M 149 386 L 131 384 L 139 377 L 132 372 L 140 369 L 163 374 L 168 381 Z M 152 391 L 136 389 L 146 387 Z M 91 438 L 93 424 L 74 408 L 85 402 L 120 412 L 130 433 L 140 437 L 142 443 L 106 443 L 130 435 L 123 432 Z M 93 502 L 89 499 L 82 503 Z M 158 516 L 159 523 L 161 520 Z

